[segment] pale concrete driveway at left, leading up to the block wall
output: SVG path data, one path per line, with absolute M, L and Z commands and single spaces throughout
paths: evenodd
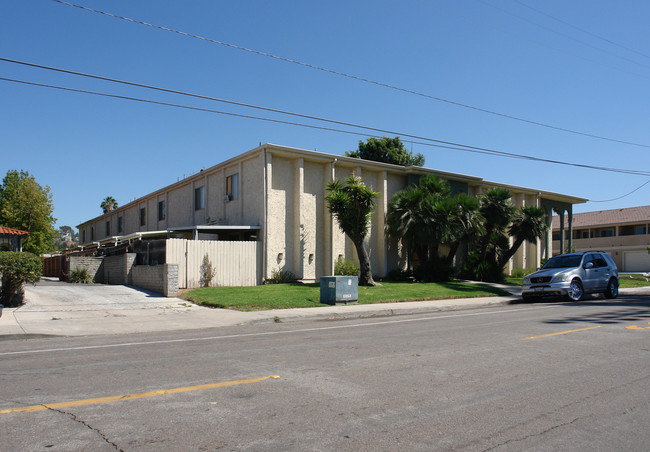
M 129 286 L 69 284 L 44 278 L 25 288 L 25 300 L 19 308 L 4 309 L 0 335 L 123 334 L 245 322 L 236 311 L 205 308 Z

